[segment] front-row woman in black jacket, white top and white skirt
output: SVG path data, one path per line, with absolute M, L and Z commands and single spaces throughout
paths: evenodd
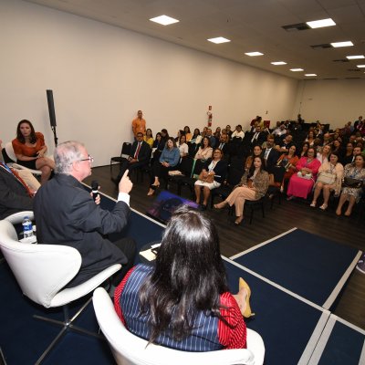
M 213 159 L 205 162 L 199 179 L 195 182 L 194 190 L 196 196 L 196 203 L 200 204 L 201 191 L 203 187 L 203 203 L 202 210 L 206 209 L 208 200 L 211 195 L 211 190 L 221 186 L 224 182 L 227 173 L 227 162 L 223 160 L 223 153 L 219 149 L 215 149 Z

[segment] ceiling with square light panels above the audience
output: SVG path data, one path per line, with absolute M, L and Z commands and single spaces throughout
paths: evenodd
M 113 26 L 191 47 L 291 78 L 316 73 L 323 78 L 365 78 L 365 0 L 28 0 Z M 172 16 L 180 22 L 161 26 L 149 21 Z M 288 32 L 282 26 L 332 18 L 336 26 Z M 214 45 L 207 38 L 224 36 Z M 310 46 L 350 40 L 354 47 L 313 49 Z M 259 51 L 261 57 L 245 52 Z M 273 66 L 272 61 L 287 65 Z M 292 72 L 290 68 L 304 68 Z M 352 69 L 352 70 L 351 70 Z

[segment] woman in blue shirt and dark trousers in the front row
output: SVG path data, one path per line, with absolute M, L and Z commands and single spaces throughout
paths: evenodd
M 160 179 L 167 179 L 168 172 L 174 170 L 179 162 L 180 151 L 176 147 L 175 140 L 169 137 L 160 160 L 155 161 L 152 165 L 150 190 L 147 195 L 153 195 L 154 191 L 160 186 Z

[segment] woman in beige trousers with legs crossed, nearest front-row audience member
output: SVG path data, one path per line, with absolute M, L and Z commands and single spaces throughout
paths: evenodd
M 265 162 L 261 156 L 256 156 L 250 170 L 242 176 L 241 182 L 228 197 L 214 208 L 222 209 L 225 205 L 235 204 L 235 224 L 241 224 L 244 219 L 245 200 L 258 200 L 265 196 L 268 188 L 268 173 L 265 171 Z

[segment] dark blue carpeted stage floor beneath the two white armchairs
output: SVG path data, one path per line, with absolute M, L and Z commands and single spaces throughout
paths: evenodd
M 111 209 L 113 204 L 114 202 L 109 198 L 102 198 L 101 206 L 103 208 Z M 151 241 L 160 240 L 162 232 L 161 224 L 156 224 L 141 214 L 131 212 L 130 224 L 121 235 L 129 235 L 134 238 L 138 249 L 141 249 L 141 246 Z M 118 237 L 120 235 L 110 235 L 111 240 Z M 253 252 L 255 251 L 259 250 Z M 314 252 L 316 251 L 314 250 Z M 293 266 L 290 256 L 285 253 L 283 255 L 285 257 L 279 258 L 278 264 L 273 262 L 273 256 L 267 257 L 265 253 L 260 256 L 260 260 L 262 263 L 267 261 L 267 266 L 270 267 Z M 229 259 L 224 258 L 224 265 L 232 292 L 237 291 L 240 276 L 244 277 L 252 288 L 252 308 L 256 316 L 247 320 L 247 327 L 255 329 L 263 337 L 266 345 L 266 364 L 308 364 L 328 320 L 328 310 L 320 308 L 308 300 L 288 294 L 285 290 L 270 284 L 264 277 L 258 276 Z M 297 277 L 297 280 L 297 286 L 302 286 L 301 278 Z M 295 279 L 290 278 L 289 282 L 294 285 Z M 32 316 L 38 314 L 60 319 L 63 316 L 62 311 L 59 308 L 51 310 L 42 308 L 24 297 L 5 262 L 0 264 L 0 283 L 0 346 L 5 354 L 5 360 L 8 365 L 32 364 L 47 348 L 59 330 L 55 326 L 37 321 Z M 309 290 L 308 295 L 310 293 Z M 321 300 L 319 301 L 321 302 Z M 74 303 L 71 315 L 80 306 L 81 301 Z M 90 330 L 97 330 L 98 325 L 92 305 L 80 315 L 76 324 Z M 328 343 L 330 342 L 328 341 Z M 47 365 L 84 363 L 97 365 L 113 364 L 114 361 L 106 342 L 68 333 L 44 363 Z

